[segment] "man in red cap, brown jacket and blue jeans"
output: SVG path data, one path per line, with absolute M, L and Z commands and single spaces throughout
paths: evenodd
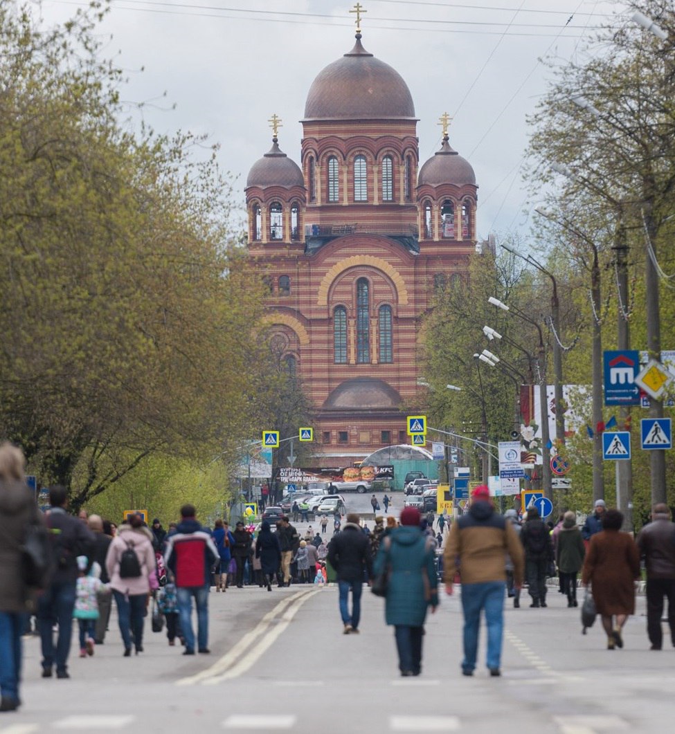
M 481 609 L 485 610 L 488 625 L 488 669 L 490 675 L 501 675 L 507 553 L 513 562 L 514 584 L 520 589 L 524 569 L 522 544 L 510 521 L 494 512 L 490 490 L 481 484 L 472 493 L 468 514 L 450 526 L 443 556 L 446 593 L 452 594 L 452 579 L 458 570 L 462 578 L 463 675 L 473 675 L 476 667 Z

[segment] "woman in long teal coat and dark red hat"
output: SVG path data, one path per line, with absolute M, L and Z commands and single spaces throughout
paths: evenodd
M 375 575 L 389 567 L 385 619 L 394 625 L 401 675 L 422 671 L 422 636 L 427 608 L 438 606 L 436 542 L 422 533 L 422 516 L 414 507 L 401 512 L 401 526 L 380 543 Z

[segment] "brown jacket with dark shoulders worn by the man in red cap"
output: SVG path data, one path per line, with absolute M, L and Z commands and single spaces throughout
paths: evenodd
M 461 573 L 462 584 L 506 581 L 505 553 L 513 562 L 513 580 L 522 584 L 524 551 L 516 531 L 489 502 L 474 501 L 450 526 L 443 554 L 444 581 Z

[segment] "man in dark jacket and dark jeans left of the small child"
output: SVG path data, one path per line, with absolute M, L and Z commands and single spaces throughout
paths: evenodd
M 69 678 L 68 655 L 71 651 L 75 587 L 79 569 L 77 556 L 87 556 L 91 564 L 94 554 L 94 535 L 78 517 L 65 511 L 68 493 L 60 484 L 49 489 L 49 509 L 46 518 L 50 530 L 51 551 L 56 570 L 48 589 L 37 602 L 37 626 L 42 644 L 42 676 L 50 678 L 54 664 L 57 678 Z M 54 625 L 59 625 L 57 645 L 54 648 Z

